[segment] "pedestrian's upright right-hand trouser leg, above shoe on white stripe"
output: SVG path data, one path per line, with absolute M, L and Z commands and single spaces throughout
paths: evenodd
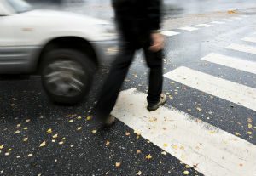
M 160 101 L 163 84 L 163 51 L 152 52 L 148 45 L 143 47 L 147 65 L 150 68 L 148 86 L 148 105 L 155 105 Z

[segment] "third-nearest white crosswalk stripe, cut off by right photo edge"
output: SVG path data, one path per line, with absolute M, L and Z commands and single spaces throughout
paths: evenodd
M 247 71 L 256 74 L 256 62 L 241 60 L 238 58 L 222 55 L 222 54 L 208 54 L 201 60 L 206 60 L 214 64 L 224 65 L 231 68 L 235 68 L 241 71 Z

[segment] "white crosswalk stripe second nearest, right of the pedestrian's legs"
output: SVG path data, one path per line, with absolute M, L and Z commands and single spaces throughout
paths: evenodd
M 179 67 L 164 75 L 176 82 L 256 111 L 256 88 L 213 77 L 201 71 Z

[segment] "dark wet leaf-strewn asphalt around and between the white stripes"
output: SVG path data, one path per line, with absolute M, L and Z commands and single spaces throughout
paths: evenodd
M 200 60 L 209 53 L 218 52 L 255 61 L 255 54 L 224 49 L 230 43 L 253 45 L 241 42 L 242 37 L 252 34 L 256 29 L 255 15 L 248 15 L 245 20 L 201 27 L 198 31 L 172 30 L 181 34 L 166 37 L 164 73 L 186 66 L 256 88 L 254 74 Z M 161 154 L 163 150 L 137 136 L 123 122 L 116 122 L 107 131 L 94 133 L 96 124 L 88 116 L 106 73 L 108 68 L 102 68 L 96 74 L 87 99 L 73 106 L 51 103 L 41 86 L 40 77 L 1 76 L 0 175 L 142 173 L 178 176 L 184 175 L 184 171 L 189 171 L 189 175 L 201 175 L 174 156 Z M 137 88 L 146 93 L 147 74 L 143 55 L 138 52 L 122 89 Z M 167 99 L 166 107 L 175 107 L 228 133 L 239 133 L 241 139 L 256 145 L 255 111 L 166 78 L 164 90 L 166 94 L 172 95 L 172 99 Z M 253 128 L 248 129 L 248 123 Z M 146 159 L 148 154 L 152 156 L 150 160 Z

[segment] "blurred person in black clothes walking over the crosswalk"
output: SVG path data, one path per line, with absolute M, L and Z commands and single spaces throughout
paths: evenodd
M 110 113 L 138 49 L 143 49 L 150 68 L 148 111 L 155 111 L 166 102 L 166 95 L 162 94 L 164 37 L 160 34 L 161 0 L 113 0 L 112 3 L 122 42 L 94 109 L 94 116 L 104 126 L 115 122 Z

